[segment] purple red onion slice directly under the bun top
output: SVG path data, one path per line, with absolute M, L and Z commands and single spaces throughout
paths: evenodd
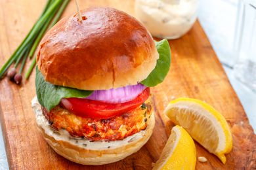
M 124 103 L 135 99 L 146 88 L 143 84 L 112 88 L 110 90 L 96 90 L 85 99 L 102 101 L 104 103 Z

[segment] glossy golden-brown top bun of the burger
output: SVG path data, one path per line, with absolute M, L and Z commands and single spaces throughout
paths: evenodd
M 112 8 L 90 8 L 63 18 L 39 46 L 37 65 L 51 84 L 107 90 L 144 80 L 156 67 L 152 36 L 135 18 Z

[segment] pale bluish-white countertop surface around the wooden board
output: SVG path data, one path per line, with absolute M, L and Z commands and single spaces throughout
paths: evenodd
M 236 4 L 238 0 L 201 0 L 198 10 L 200 23 L 211 41 L 213 48 L 221 61 L 234 63 L 232 58 L 232 43 L 234 41 L 234 27 L 236 22 Z M 256 93 L 236 80 L 230 67 L 224 69 L 244 106 L 247 117 L 254 131 L 256 131 Z M 0 169 L 9 169 L 3 135 L 0 128 Z

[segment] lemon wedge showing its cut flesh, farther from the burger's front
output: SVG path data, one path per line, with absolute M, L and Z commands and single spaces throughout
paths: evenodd
M 198 99 L 179 98 L 171 101 L 164 113 L 188 131 L 193 139 L 226 163 L 232 150 L 232 135 L 221 113 Z

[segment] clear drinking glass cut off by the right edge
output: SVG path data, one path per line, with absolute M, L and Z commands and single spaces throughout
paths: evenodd
M 240 2 L 240 25 L 238 25 L 238 59 L 234 75 L 256 92 L 256 1 Z

